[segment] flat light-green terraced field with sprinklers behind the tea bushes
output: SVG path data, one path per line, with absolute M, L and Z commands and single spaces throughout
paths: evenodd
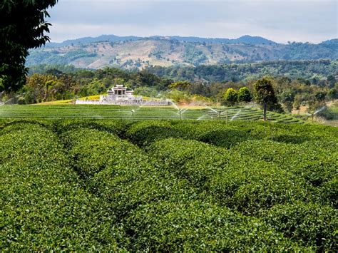
M 185 120 L 262 120 L 262 110 L 252 107 L 182 108 L 119 105 L 3 105 L 0 118 L 96 118 L 96 119 L 185 119 Z M 267 113 L 277 123 L 304 123 L 279 113 Z

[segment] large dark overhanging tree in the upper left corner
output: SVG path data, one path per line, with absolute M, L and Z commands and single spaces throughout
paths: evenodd
M 29 48 L 49 41 L 46 9 L 58 0 L 0 1 L 0 92 L 17 91 L 25 83 Z

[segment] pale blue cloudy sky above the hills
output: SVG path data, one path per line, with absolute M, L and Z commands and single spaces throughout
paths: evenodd
M 48 12 L 52 42 L 102 34 L 338 38 L 337 0 L 58 0 Z

